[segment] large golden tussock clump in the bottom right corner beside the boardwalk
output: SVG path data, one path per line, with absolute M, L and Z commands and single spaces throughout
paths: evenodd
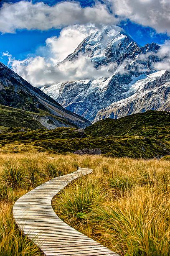
M 170 200 L 157 189 L 138 187 L 94 214 L 95 236 L 122 255 L 170 255 Z

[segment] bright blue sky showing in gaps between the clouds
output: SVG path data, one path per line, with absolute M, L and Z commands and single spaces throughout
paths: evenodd
M 2 1 L 16 3 L 19 0 Z M 32 3 L 41 2 L 41 0 L 32 0 Z M 44 0 L 48 5 L 55 5 L 60 0 Z M 79 0 L 82 7 L 93 6 L 93 0 Z M 131 20 L 123 20 L 118 24 L 124 28 L 127 33 L 132 35 L 135 41 L 140 45 L 156 42 L 163 44 L 165 40 L 170 39 L 166 33 L 157 33 L 153 28 L 145 27 L 140 24 L 134 23 Z M 49 29 L 47 31 L 40 30 L 17 30 L 16 33 L 4 33 L 0 35 L 0 61 L 7 64 L 8 58 L 2 56 L 3 52 L 9 52 L 13 58 L 23 60 L 27 56 L 32 56 L 40 46 L 45 46 L 46 38 L 51 36 L 59 36 L 59 29 Z

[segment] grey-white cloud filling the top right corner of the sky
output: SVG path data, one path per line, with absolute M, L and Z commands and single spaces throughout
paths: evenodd
M 122 18 L 170 34 L 170 0 L 110 0 L 110 3 Z

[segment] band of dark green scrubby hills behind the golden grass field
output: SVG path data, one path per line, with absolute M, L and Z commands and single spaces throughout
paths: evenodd
M 85 130 L 60 127 L 31 131 L 31 125 L 27 129 L 8 128 L 0 133 L 0 145 L 2 150 L 16 153 L 22 148 L 20 145 L 31 145 L 55 154 L 100 148 L 106 156 L 160 157 L 170 150 L 169 118 L 170 113 L 147 111 L 118 120 L 102 120 Z

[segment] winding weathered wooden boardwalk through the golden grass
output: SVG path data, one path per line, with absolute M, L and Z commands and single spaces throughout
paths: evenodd
M 13 217 L 23 231 L 45 255 L 92 256 L 114 255 L 108 248 L 71 228 L 53 211 L 51 200 L 72 180 L 91 173 L 92 169 L 60 176 L 36 187 L 20 197 L 13 206 Z

